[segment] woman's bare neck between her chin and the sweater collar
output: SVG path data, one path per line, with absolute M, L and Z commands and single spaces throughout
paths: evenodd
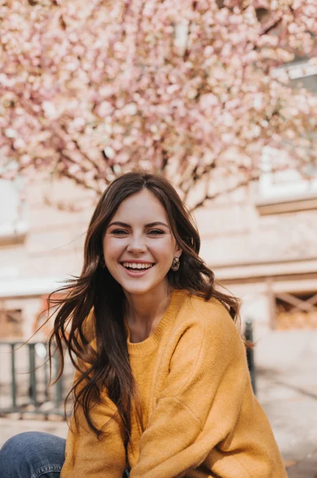
M 126 322 L 131 342 L 142 342 L 155 332 L 170 301 L 167 283 L 158 285 L 146 294 L 126 294 Z

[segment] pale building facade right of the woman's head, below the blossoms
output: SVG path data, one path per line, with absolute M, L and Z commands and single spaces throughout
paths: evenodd
M 265 176 L 196 213 L 202 256 L 242 298 L 242 318 L 254 321 L 257 337 L 317 328 L 316 178 Z

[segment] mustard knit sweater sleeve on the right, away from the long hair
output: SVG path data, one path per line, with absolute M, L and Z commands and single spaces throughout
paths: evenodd
M 208 463 L 207 469 L 214 475 L 226 478 L 286 478 L 266 417 L 261 416 L 260 430 L 252 436 L 250 428 L 256 404 L 250 387 L 246 350 L 226 309 L 218 307 L 213 315 L 207 312 L 202 320 L 187 320 L 179 337 L 169 375 L 149 426 L 141 436 L 139 461 L 132 468 L 130 478 L 191 476 L 189 470 L 203 463 L 205 466 Z M 246 396 L 247 409 L 243 414 L 250 422 L 243 423 Z M 242 430 L 243 427 L 246 429 Z M 255 473 L 257 464 L 247 470 L 238 459 L 231 457 L 235 453 L 231 449 L 235 440 L 242 455 L 248 453 L 248 448 L 255 447 L 261 470 Z M 263 450 L 261 440 L 268 440 Z M 271 451 L 272 457 L 278 460 L 277 468 L 270 467 Z

